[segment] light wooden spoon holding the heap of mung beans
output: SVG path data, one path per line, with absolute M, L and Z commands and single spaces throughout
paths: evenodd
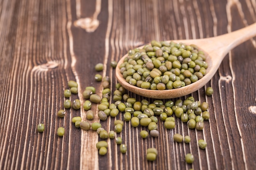
M 249 40 L 256 36 L 256 23 L 247 26 L 243 29 L 239 29 L 237 31 L 227 33 L 224 35 L 219 35 L 212 38 L 204 38 L 204 39 L 195 39 L 195 40 L 172 40 L 173 42 L 182 42 L 184 44 L 195 44 L 197 45 L 202 51 L 205 52 L 206 55 L 206 62 L 208 63 L 208 68 L 206 70 L 206 75 L 199 79 L 197 82 L 194 82 L 190 85 L 171 89 L 171 90 L 148 90 L 139 88 L 137 86 L 133 86 L 126 82 L 123 78 L 123 75 L 120 72 L 120 64 L 123 63 L 124 58 L 127 57 L 127 54 L 119 60 L 117 67 L 116 67 L 116 77 L 117 81 L 128 91 L 132 93 L 136 93 L 138 95 L 154 98 L 154 99 L 171 99 L 175 97 L 181 97 L 184 95 L 188 95 L 197 91 L 199 88 L 207 84 L 209 80 L 213 77 L 213 75 L 218 70 L 220 63 L 227 55 L 227 53 L 242 44 L 243 42 Z M 170 41 L 169 41 L 170 42 Z M 139 47 L 139 48 L 142 48 Z

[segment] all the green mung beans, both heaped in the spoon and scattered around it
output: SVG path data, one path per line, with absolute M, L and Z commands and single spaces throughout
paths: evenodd
M 193 77 L 200 79 L 207 68 L 203 53 L 193 45 L 186 46 L 173 42 L 152 41 L 151 46 L 146 45 L 143 49 L 130 50 L 128 54 L 127 61 L 121 66 L 121 71 L 126 81 L 139 87 L 142 86 L 141 88 L 145 88 L 145 82 L 150 83 L 150 85 L 147 85 L 150 87 L 147 88 L 154 90 L 179 88 L 195 82 Z M 110 65 L 112 68 L 116 68 L 117 62 L 112 61 Z M 156 68 L 158 71 L 156 71 Z M 95 71 L 100 72 L 102 70 L 103 64 L 99 63 L 95 66 Z M 168 75 L 168 81 L 165 79 L 166 75 Z M 115 139 L 115 143 L 120 146 L 119 151 L 123 154 L 126 153 L 127 146 L 125 141 L 117 136 L 118 133 L 123 131 L 124 122 L 130 123 L 133 128 L 138 126 L 146 127 L 145 130 L 141 130 L 139 133 L 140 137 L 144 139 L 158 137 L 158 128 L 162 128 L 159 127 L 159 121 L 164 121 L 164 128 L 174 129 L 175 122 L 177 122 L 175 119 L 181 119 L 189 129 L 202 130 L 204 121 L 209 120 L 210 114 L 207 111 L 209 108 L 207 102 L 195 101 L 192 96 L 187 97 L 184 101 L 181 99 L 176 99 L 175 101 L 170 99 L 165 102 L 155 99 L 151 103 L 147 99 L 137 101 L 136 98 L 130 97 L 126 89 L 119 83 L 115 85 L 115 91 L 112 94 L 112 89 L 110 89 L 111 79 L 108 76 L 102 77 L 101 74 L 97 73 L 94 78 L 96 82 L 102 82 L 103 90 L 101 94 L 96 93 L 95 87 L 87 86 L 82 94 L 83 99 L 74 99 L 71 102 L 70 96 L 78 93 L 78 84 L 70 80 L 67 82 L 69 88 L 64 90 L 64 108 L 61 108 L 56 115 L 59 118 L 63 118 L 67 109 L 83 109 L 86 113 L 85 119 L 82 120 L 80 116 L 73 117 L 72 123 L 76 128 L 81 128 L 82 130 L 97 131 L 100 141 L 97 142 L 96 148 L 101 156 L 106 155 L 108 152 L 108 143 L 106 142 L 108 138 Z M 134 83 L 135 81 L 136 83 Z M 181 85 L 177 85 L 177 81 L 181 81 Z M 158 84 L 164 85 L 159 88 Z M 206 94 L 208 96 L 212 95 L 213 89 L 208 87 Z M 97 105 L 97 110 L 92 110 L 93 104 Z M 101 121 L 106 121 L 109 117 L 117 117 L 119 114 L 122 114 L 122 120 L 115 120 L 114 129 L 109 131 L 105 130 L 100 122 L 89 122 L 95 116 L 98 116 Z M 43 132 L 45 130 L 44 124 L 38 124 L 37 130 L 38 132 Z M 59 137 L 62 137 L 65 129 L 59 127 L 56 133 Z M 178 143 L 184 141 L 189 144 L 191 138 L 188 135 L 183 137 L 180 134 L 174 134 L 173 141 Z M 205 149 L 207 143 L 200 139 L 198 146 L 201 149 Z M 148 148 L 146 159 L 155 161 L 157 159 L 157 149 Z M 194 161 L 191 153 L 188 153 L 184 159 L 187 163 L 193 163 Z

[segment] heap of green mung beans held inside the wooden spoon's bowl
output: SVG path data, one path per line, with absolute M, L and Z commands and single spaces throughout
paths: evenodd
M 126 82 L 140 88 L 180 88 L 206 74 L 205 58 L 204 52 L 193 44 L 153 40 L 142 49 L 129 50 L 120 71 Z

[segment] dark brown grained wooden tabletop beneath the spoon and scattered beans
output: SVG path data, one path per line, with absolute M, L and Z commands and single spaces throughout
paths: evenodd
M 232 50 L 211 81 L 191 94 L 209 103 L 211 116 L 202 131 L 189 130 L 178 119 L 175 129 L 166 130 L 159 121 L 159 137 L 141 139 L 139 131 L 145 128 L 127 122 L 118 134 L 127 153 L 108 139 L 102 157 L 95 148 L 97 133 L 71 123 L 74 116 L 86 120 L 83 109 L 56 117 L 67 81 L 79 84 L 79 94 L 71 100 L 83 102 L 86 86 L 101 94 L 101 83 L 94 81 L 99 62 L 114 91 L 110 61 L 129 49 L 151 40 L 213 37 L 254 22 L 255 0 L 0 0 L 0 169 L 254 170 L 256 38 Z M 211 97 L 204 93 L 207 86 L 214 89 Z M 97 112 L 96 104 L 92 110 Z M 113 130 L 114 120 L 101 124 Z M 96 116 L 90 122 L 97 121 Z M 39 123 L 45 124 L 43 133 L 36 130 Z M 60 126 L 63 137 L 56 135 Z M 191 143 L 173 142 L 174 133 L 189 135 Z M 198 148 L 198 139 L 207 141 L 206 150 Z M 154 162 L 146 161 L 149 147 L 159 152 Z M 192 165 L 184 161 L 189 152 L 195 156 Z

